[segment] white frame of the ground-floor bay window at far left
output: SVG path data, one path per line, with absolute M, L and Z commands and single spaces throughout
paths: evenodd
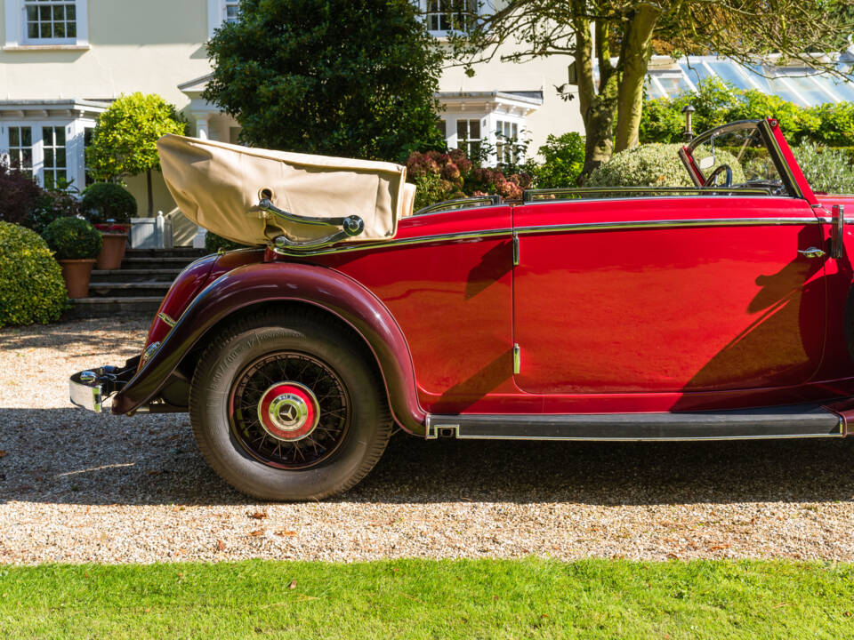
M 92 118 L 44 118 L 44 119 L 15 119 L 0 122 L 0 156 L 9 160 L 9 128 L 31 127 L 33 130 L 33 177 L 39 185 L 44 187 L 44 140 L 42 137 L 43 127 L 65 127 L 65 175 L 66 180 L 71 180 L 71 187 L 83 191 L 86 186 L 85 174 L 85 150 L 84 131 L 93 127 L 95 121 Z

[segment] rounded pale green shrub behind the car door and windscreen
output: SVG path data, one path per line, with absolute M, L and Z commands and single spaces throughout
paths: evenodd
M 679 144 L 647 144 L 625 149 L 590 174 L 588 187 L 693 187 L 688 170 L 677 155 Z M 699 159 L 697 154 L 697 159 Z M 716 165 L 729 164 L 732 182 L 745 181 L 740 164 L 728 151 L 715 151 Z

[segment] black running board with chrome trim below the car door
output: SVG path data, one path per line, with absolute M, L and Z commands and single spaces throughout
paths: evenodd
M 815 404 L 722 412 L 427 416 L 430 439 L 738 440 L 843 435 L 842 418 Z

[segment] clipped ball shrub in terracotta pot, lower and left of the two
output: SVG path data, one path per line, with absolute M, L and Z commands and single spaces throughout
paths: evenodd
M 103 244 L 98 229 L 82 218 L 57 218 L 42 237 L 60 262 L 68 298 L 89 295 L 89 277 Z

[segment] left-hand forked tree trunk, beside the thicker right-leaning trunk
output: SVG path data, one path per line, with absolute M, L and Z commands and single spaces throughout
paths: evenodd
M 577 5 L 577 6 L 576 6 Z M 573 2 L 576 18 L 576 75 L 578 78 L 578 102 L 584 122 L 584 169 L 581 180 L 600 164 L 608 162 L 613 151 L 614 116 L 616 112 L 616 69 L 611 66 L 608 51 L 608 23 L 597 20 L 596 54 L 599 61 L 600 84 L 596 91 L 593 82 L 593 39 L 591 22 L 584 18 L 584 2 Z

